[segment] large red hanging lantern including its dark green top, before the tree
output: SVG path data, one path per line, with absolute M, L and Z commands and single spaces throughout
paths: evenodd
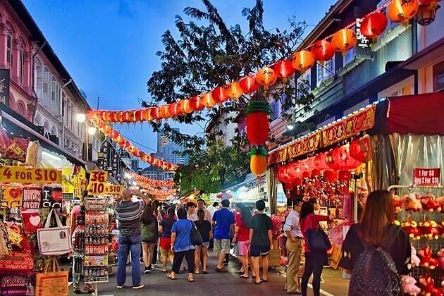
M 247 107 L 247 139 L 252 145 L 265 144 L 269 139 L 270 106 L 266 101 L 249 101 Z

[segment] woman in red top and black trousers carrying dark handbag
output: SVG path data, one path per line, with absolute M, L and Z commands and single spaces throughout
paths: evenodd
M 327 249 L 329 249 L 328 238 L 319 228 L 319 222 L 331 221 L 333 216 L 322 216 L 314 214 L 314 206 L 311 202 L 302 204 L 300 213 L 300 227 L 305 242 L 305 269 L 301 280 L 302 295 L 307 295 L 307 285 L 313 274 L 313 294 L 319 296 L 321 290 L 321 274 L 324 265 L 328 264 Z M 316 240 L 316 238 L 318 238 Z M 321 239 L 319 240 L 319 238 Z

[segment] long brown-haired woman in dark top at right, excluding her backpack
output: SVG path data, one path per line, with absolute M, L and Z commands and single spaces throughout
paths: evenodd
M 342 252 L 347 255 L 340 259 L 339 265 L 345 272 L 352 273 L 359 255 L 367 246 L 374 246 L 381 247 L 391 257 L 398 275 L 410 273 L 412 249 L 407 233 L 393 224 L 392 199 L 387 190 L 376 190 L 367 197 L 361 221 L 350 227 L 343 243 Z

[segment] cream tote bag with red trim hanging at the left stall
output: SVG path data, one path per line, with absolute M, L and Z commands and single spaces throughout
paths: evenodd
M 56 216 L 57 227 L 49 228 L 53 213 Z M 42 255 L 63 255 L 71 251 L 70 228 L 62 226 L 60 218 L 58 218 L 54 209 L 49 211 L 44 228 L 37 229 L 37 242 Z

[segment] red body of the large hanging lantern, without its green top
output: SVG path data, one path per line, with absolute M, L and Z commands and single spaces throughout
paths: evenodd
M 247 139 L 252 145 L 261 145 L 269 139 L 269 116 L 265 112 L 247 115 Z

